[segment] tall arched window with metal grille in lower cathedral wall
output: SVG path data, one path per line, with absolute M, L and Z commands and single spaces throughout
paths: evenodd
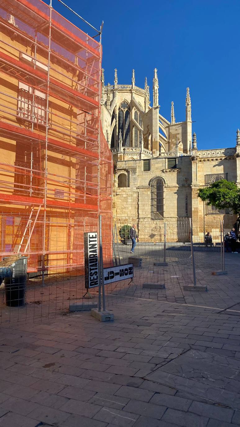
M 163 219 L 164 217 L 164 181 L 156 176 L 150 181 L 151 189 L 151 219 Z

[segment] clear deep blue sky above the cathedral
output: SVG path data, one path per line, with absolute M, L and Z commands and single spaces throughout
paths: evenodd
M 48 3 L 46 1 L 46 3 Z M 240 128 L 240 1 L 130 0 L 114 2 L 65 0 L 97 28 L 104 20 L 103 68 L 105 84 L 150 85 L 158 69 L 160 114 L 170 120 L 174 101 L 176 121 L 185 120 L 189 86 L 193 132 L 198 148 L 232 147 Z M 57 0 L 54 9 L 93 35 L 93 30 Z

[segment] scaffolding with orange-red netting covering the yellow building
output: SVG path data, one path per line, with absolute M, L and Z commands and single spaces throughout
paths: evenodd
M 112 218 L 101 43 L 41 0 L 0 0 L 0 34 L 1 255 L 81 275 L 84 231 Z

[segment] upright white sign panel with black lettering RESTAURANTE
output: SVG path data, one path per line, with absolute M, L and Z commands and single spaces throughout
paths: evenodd
M 84 233 L 85 288 L 98 286 L 98 233 Z

